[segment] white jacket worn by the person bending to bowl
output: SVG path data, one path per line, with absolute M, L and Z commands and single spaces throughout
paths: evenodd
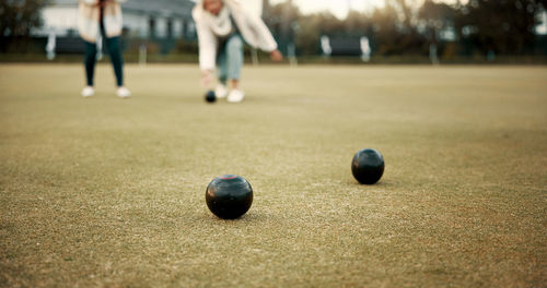
M 259 16 L 248 13 L 238 0 L 223 0 L 245 41 L 253 48 L 259 48 L 266 52 L 277 49 L 277 43 L 271 36 L 268 27 Z M 198 2 L 191 15 L 196 22 L 199 44 L 199 68 L 201 70 L 214 70 L 217 61 L 218 38 L 213 34 L 208 19 L 203 16 L 209 13 Z

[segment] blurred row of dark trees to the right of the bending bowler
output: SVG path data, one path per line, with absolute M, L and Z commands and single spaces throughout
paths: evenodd
M 319 38 L 368 36 L 373 52 L 422 55 L 430 47 L 443 56 L 522 55 L 534 51 L 535 27 L 547 0 L 385 0 L 372 12 L 350 11 L 345 20 L 330 12 L 302 15 L 292 0 L 269 8 L 266 22 L 280 46 L 294 41 L 300 53 L 321 52 Z M 537 49 L 537 48 L 536 48 Z

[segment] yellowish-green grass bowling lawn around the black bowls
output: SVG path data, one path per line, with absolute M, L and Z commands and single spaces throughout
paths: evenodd
M 546 287 L 545 67 L 246 68 L 241 105 L 126 72 L 83 99 L 80 65 L 0 65 L 0 287 Z

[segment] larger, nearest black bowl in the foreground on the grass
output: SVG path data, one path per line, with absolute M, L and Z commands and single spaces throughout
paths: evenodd
M 235 219 L 251 208 L 253 188 L 241 176 L 217 177 L 207 187 L 206 202 L 212 214 L 219 218 Z

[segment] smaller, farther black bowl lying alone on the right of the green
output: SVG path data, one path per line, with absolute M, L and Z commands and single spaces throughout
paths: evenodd
M 384 157 L 375 149 L 356 153 L 351 161 L 351 172 L 361 184 L 374 184 L 384 173 Z

